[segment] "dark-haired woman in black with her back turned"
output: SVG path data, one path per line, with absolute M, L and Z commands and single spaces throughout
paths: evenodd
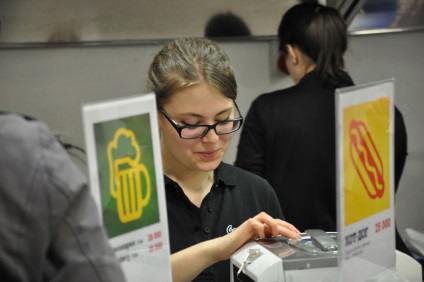
M 333 8 L 291 7 L 278 39 L 282 69 L 294 85 L 257 97 L 240 135 L 235 166 L 268 180 L 285 219 L 301 231 L 337 230 L 335 89 L 353 85 L 344 70 L 346 29 Z M 397 108 L 395 121 L 397 187 L 407 155 Z

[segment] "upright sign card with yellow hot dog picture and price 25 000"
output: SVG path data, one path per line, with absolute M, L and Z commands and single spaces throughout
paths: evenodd
M 336 90 L 340 281 L 395 267 L 394 80 Z

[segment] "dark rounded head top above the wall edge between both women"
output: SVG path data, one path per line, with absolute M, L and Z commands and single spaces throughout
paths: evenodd
M 206 37 L 250 36 L 247 24 L 239 16 L 227 12 L 212 16 L 206 23 Z

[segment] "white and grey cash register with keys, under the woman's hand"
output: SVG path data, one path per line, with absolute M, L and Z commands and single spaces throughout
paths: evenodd
M 310 229 L 300 235 L 245 244 L 231 256 L 231 281 L 337 281 L 337 233 Z

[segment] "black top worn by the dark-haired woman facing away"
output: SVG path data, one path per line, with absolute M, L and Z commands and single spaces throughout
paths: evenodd
M 344 86 L 352 86 L 346 75 Z M 312 73 L 295 86 L 260 95 L 241 132 L 235 165 L 275 189 L 286 220 L 301 232 L 337 229 L 335 87 Z M 395 184 L 406 158 L 406 130 L 395 109 Z

